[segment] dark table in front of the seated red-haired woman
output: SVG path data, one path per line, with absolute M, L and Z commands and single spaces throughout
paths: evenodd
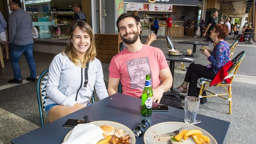
M 170 70 L 174 79 L 174 65 L 175 65 L 175 61 L 178 62 L 185 62 L 185 63 L 194 63 L 194 61 L 200 56 L 201 52 L 196 52 L 193 53 L 193 56 L 186 56 L 184 53 L 186 52 L 182 52 L 182 55 L 169 55 L 167 50 L 163 50 L 163 54 L 165 54 L 165 59 L 167 61 L 170 61 Z M 190 58 L 193 60 L 187 60 L 187 59 L 183 59 L 183 58 Z M 173 90 L 173 86 L 170 89 L 171 91 Z

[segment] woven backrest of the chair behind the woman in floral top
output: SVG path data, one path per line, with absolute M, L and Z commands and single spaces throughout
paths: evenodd
M 234 59 L 232 59 L 233 66 L 229 68 L 228 76 L 226 76 L 224 79 L 230 78 L 230 83 L 232 83 L 241 62 L 243 61 L 243 58 L 245 58 L 245 54 L 246 52 L 242 51 Z

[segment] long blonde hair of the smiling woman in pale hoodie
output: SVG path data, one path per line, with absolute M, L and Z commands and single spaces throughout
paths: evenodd
M 76 28 L 79 28 L 81 31 L 87 33 L 91 39 L 90 47 L 85 52 L 83 61 L 80 61 L 78 55 L 76 54 L 77 50 L 74 48 L 73 43 L 71 41 L 73 37 L 73 33 L 76 30 Z M 79 64 L 81 63 L 81 67 L 85 68 L 86 64 L 89 63 L 90 61 L 93 61 L 94 58 L 96 57 L 96 47 L 95 47 L 93 30 L 91 29 L 89 24 L 87 24 L 83 20 L 76 20 L 72 22 L 72 24 L 69 26 L 69 36 L 70 37 L 67 41 L 67 46 L 62 50 L 61 54 L 67 55 L 70 61 L 72 61 L 75 65 L 79 66 Z

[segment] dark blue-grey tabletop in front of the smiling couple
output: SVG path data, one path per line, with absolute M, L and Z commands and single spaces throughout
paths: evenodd
M 61 144 L 71 130 L 63 127 L 69 118 L 83 119 L 87 114 L 90 120 L 111 120 L 126 125 L 130 129 L 139 125 L 146 118 L 150 126 L 160 122 L 184 122 L 184 110 L 169 107 L 169 112 L 153 112 L 152 116 L 141 116 L 141 99 L 124 94 L 113 94 L 59 120 L 39 127 L 29 133 L 11 140 L 12 144 Z M 218 142 L 224 142 L 230 122 L 197 114 L 201 124 L 197 125 L 208 131 Z M 146 129 L 145 129 L 146 130 Z M 143 137 L 136 139 L 136 144 L 143 144 Z

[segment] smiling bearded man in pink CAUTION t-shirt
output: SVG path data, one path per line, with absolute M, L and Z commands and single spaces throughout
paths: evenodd
M 133 15 L 123 13 L 117 20 L 117 28 L 127 49 L 115 55 L 110 62 L 109 95 L 117 93 L 121 81 L 123 94 L 140 98 L 146 74 L 151 74 L 153 102 L 159 103 L 163 92 L 167 92 L 173 85 L 173 77 L 163 52 L 141 43 L 140 27 Z

